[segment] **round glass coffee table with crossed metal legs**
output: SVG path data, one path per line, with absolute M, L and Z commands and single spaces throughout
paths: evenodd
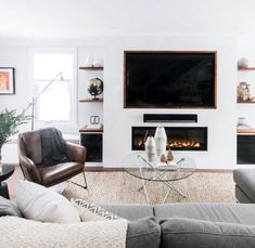
M 144 152 L 133 153 L 124 158 L 123 166 L 127 173 L 141 180 L 142 186 L 138 191 L 144 190 L 148 204 L 150 196 L 146 186 L 153 182 L 162 182 L 168 186 L 162 204 L 166 201 L 170 191 L 186 197 L 174 186 L 174 182 L 192 175 L 196 169 L 195 161 L 180 153 L 174 153 L 174 160 L 168 162 L 161 162 L 160 159 L 149 161 Z

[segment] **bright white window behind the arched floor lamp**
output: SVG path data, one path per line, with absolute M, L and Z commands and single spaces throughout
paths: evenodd
M 37 128 L 54 126 L 67 132 L 75 128 L 75 71 L 76 50 L 42 50 L 33 53 L 34 96 L 40 94 L 35 105 Z

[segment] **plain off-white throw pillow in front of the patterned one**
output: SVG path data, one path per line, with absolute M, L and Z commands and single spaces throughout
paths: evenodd
M 36 183 L 18 181 L 16 203 L 27 219 L 54 223 L 80 222 L 78 211 L 64 196 Z

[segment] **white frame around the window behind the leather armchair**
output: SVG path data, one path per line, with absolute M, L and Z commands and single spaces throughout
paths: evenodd
M 74 57 L 74 79 L 73 84 L 71 87 L 71 120 L 69 121 L 40 121 L 35 117 L 35 129 L 46 128 L 46 127 L 55 127 L 65 133 L 75 133 L 78 129 L 78 107 L 77 107 L 77 49 L 76 48 L 33 48 L 29 50 L 29 61 L 30 61 L 30 99 L 35 96 L 35 82 L 34 82 L 34 55 L 37 53 L 66 53 L 72 54 Z M 56 71 L 58 74 L 59 71 Z M 65 77 L 63 75 L 63 77 Z M 53 82 L 54 83 L 54 82 Z M 35 107 L 36 109 L 36 107 Z

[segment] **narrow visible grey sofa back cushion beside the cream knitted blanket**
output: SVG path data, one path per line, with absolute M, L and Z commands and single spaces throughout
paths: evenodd
M 158 248 L 161 226 L 155 218 L 143 218 L 128 223 L 127 248 Z

